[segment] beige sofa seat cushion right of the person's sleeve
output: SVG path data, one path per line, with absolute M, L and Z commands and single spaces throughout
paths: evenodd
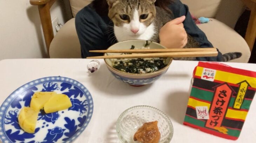
M 235 30 L 224 23 L 211 18 L 207 24 L 197 25 L 204 33 L 214 47 L 218 48 L 222 54 L 228 52 L 241 52 L 242 57 L 231 60 L 230 62 L 248 62 L 251 52 L 249 46 Z

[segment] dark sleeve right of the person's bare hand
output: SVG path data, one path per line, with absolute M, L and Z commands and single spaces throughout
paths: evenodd
M 213 47 L 213 45 L 208 41 L 205 33 L 201 29 L 199 29 L 193 21 L 187 5 L 181 3 L 180 0 L 175 0 L 169 6 L 169 8 L 173 12 L 175 18 L 181 17 L 183 15 L 186 16 L 186 19 L 183 22 L 184 28 L 190 36 L 197 40 L 201 48 Z M 196 59 L 198 61 L 221 61 L 222 54 L 220 51 L 218 51 L 217 57 L 197 57 Z

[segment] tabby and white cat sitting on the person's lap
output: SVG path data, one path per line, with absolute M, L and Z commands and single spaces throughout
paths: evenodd
M 151 40 L 159 43 L 160 28 L 173 19 L 171 12 L 155 6 L 156 0 L 107 0 L 109 18 L 114 22 L 114 33 L 118 42 L 124 40 Z M 199 47 L 198 42 L 188 35 L 184 48 Z M 223 54 L 223 61 L 240 58 L 242 53 Z M 174 58 L 195 60 L 195 58 Z

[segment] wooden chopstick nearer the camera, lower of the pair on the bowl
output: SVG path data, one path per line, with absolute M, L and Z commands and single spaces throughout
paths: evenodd
M 191 52 L 171 52 L 171 53 L 148 53 L 148 54 L 123 54 L 87 57 L 87 59 L 127 59 L 127 58 L 182 58 L 182 57 L 216 57 L 215 51 L 191 51 Z

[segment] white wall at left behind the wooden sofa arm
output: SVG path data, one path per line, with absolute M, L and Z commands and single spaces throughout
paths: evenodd
M 52 20 L 63 25 L 72 15 L 68 0 L 57 0 L 51 8 Z M 37 6 L 29 0 L 0 0 L 0 60 L 47 58 Z

